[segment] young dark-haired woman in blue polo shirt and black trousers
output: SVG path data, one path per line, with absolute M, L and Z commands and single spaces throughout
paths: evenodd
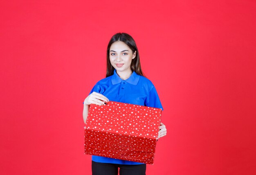
M 139 52 L 134 39 L 117 33 L 107 48 L 106 78 L 98 81 L 84 100 L 83 120 L 86 122 L 90 104 L 106 105 L 108 101 L 162 108 L 153 83 L 142 73 Z M 163 123 L 158 138 L 166 135 Z M 146 164 L 92 155 L 92 175 L 145 175 Z

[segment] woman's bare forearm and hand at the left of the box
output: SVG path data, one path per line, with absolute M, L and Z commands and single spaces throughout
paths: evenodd
M 105 105 L 105 102 L 109 102 L 108 98 L 98 92 L 92 92 L 86 97 L 83 102 L 83 121 L 86 122 L 90 104 Z

